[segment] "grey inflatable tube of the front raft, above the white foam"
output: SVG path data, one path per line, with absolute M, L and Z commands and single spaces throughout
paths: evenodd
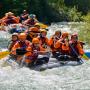
M 38 66 L 33 66 L 30 69 L 36 70 L 36 71 L 43 71 L 46 69 L 52 69 L 52 68 L 57 68 L 61 66 L 77 66 L 81 65 L 82 63 L 78 63 L 77 61 L 57 61 L 55 58 L 50 58 L 50 61 L 47 64 L 43 65 L 38 65 Z

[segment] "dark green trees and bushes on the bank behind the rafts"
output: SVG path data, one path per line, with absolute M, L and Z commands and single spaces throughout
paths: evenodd
M 80 21 L 90 11 L 90 0 L 0 0 L 0 17 L 8 11 L 20 15 L 24 9 L 46 23 Z

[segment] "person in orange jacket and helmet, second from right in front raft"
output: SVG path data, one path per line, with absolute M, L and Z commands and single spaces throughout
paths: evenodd
M 59 50 L 57 55 L 58 60 L 67 60 L 69 58 L 69 33 L 62 33 L 61 38 L 55 44 L 55 48 Z

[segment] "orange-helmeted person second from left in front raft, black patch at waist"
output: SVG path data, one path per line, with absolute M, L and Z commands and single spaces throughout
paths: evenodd
M 20 33 L 18 35 L 19 41 L 13 46 L 11 54 L 16 57 L 18 63 L 21 62 L 23 55 L 26 53 L 28 47 L 30 47 L 30 41 L 26 40 L 26 34 Z

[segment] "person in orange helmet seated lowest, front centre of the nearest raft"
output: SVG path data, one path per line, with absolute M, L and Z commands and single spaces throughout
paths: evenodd
M 38 38 L 33 38 L 32 45 L 27 48 L 27 53 L 25 63 L 27 66 L 29 65 L 41 65 L 44 63 L 48 63 L 49 56 L 47 51 L 40 45 L 40 41 Z M 42 57 L 38 57 L 42 55 Z

